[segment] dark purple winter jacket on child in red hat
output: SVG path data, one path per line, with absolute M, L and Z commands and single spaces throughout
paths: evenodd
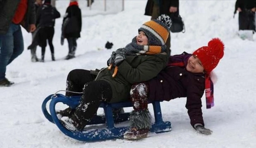
M 183 52 L 170 56 L 170 62 L 182 62 L 187 65 L 192 54 Z M 205 75 L 188 72 L 185 67 L 169 66 L 156 77 L 148 81 L 149 101 L 170 101 L 171 99 L 187 97 L 185 107 L 188 109 L 190 123 L 194 128 L 196 123 L 204 126 L 201 97 L 205 90 Z

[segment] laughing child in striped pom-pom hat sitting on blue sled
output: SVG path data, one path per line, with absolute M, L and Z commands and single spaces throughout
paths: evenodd
M 61 116 L 67 116 L 60 119 L 62 124 L 70 130 L 83 130 L 101 102 L 127 101 L 132 84 L 148 81 L 164 69 L 169 60 L 165 42 L 170 26 L 167 15 L 145 22 L 131 43 L 112 52 L 107 62 L 109 68 L 101 69 L 97 76 L 87 70 L 71 71 L 66 95 L 77 95 L 73 92 L 81 91 L 83 95 L 74 111 L 65 109 L 60 112 Z

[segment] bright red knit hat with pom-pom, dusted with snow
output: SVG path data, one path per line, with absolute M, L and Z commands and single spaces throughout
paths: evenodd
M 200 47 L 193 55 L 201 60 L 206 74 L 209 75 L 224 56 L 224 44 L 219 38 L 213 38 L 208 42 L 208 46 Z

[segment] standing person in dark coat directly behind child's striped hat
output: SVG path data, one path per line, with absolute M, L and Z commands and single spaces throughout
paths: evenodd
M 179 0 L 148 0 L 145 8 L 145 15 L 156 19 L 161 14 L 167 14 L 169 17 L 179 15 Z M 166 41 L 167 49 L 171 50 L 171 34 Z

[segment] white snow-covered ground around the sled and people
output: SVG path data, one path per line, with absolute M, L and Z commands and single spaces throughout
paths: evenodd
M 62 16 L 68 2 L 58 0 L 56 3 Z M 138 33 L 140 25 L 150 20 L 149 16 L 144 15 L 146 0 L 126 0 L 124 11 L 118 8 L 122 6 L 121 1 L 107 1 L 107 12 L 104 12 L 102 0 L 95 0 L 91 11 L 86 7 L 85 0 L 79 3 L 83 13 L 83 28 L 74 59 L 64 60 L 68 47 L 66 40 L 63 46 L 60 45 L 62 19 L 57 19 L 55 25 L 55 62 L 51 61 L 47 47 L 45 63 L 32 63 L 30 51 L 26 50 L 31 42 L 31 34 L 23 30 L 25 50 L 7 66 L 6 72 L 6 77 L 15 84 L 0 88 L 1 148 L 256 147 L 256 35 L 254 41 L 242 40 L 237 36 L 238 15 L 233 18 L 235 0 L 180 0 L 180 14 L 186 32 L 171 34 L 172 54 L 193 52 L 207 45 L 214 37 L 224 41 L 225 55 L 215 69 L 218 75 L 214 88 L 215 107 L 206 109 L 205 96 L 202 97 L 205 125 L 213 130 L 212 135 L 201 135 L 190 126 L 185 98 L 161 103 L 163 119 L 171 121 L 172 131 L 150 133 L 143 140 L 118 139 L 88 143 L 61 133 L 42 114 L 44 98 L 65 89 L 69 71 L 105 67 L 111 52 L 128 44 Z M 106 41 L 114 43 L 111 50 L 104 49 Z M 40 54 L 41 49 L 38 47 L 37 56 L 40 57 Z M 65 108 L 64 105 L 59 107 Z M 151 105 L 150 110 L 152 112 Z M 99 110 L 99 114 L 102 112 Z

